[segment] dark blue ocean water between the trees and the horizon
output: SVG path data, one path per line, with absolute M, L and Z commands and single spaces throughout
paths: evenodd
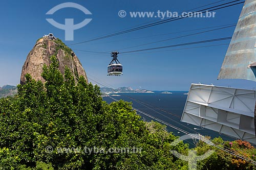
M 132 106 L 134 108 L 139 109 L 154 117 L 157 117 L 163 120 L 164 122 L 174 125 L 189 133 L 200 133 L 201 135 L 204 136 L 210 136 L 211 139 L 220 136 L 224 140 L 234 140 L 233 138 L 230 138 L 224 134 L 219 134 L 219 132 L 215 132 L 205 128 L 202 129 L 198 126 L 194 126 L 191 124 L 188 125 L 186 123 L 180 122 L 180 117 L 182 116 L 182 112 L 187 99 L 187 95 L 185 93 L 187 93 L 188 91 L 172 91 L 172 94 L 163 94 L 161 93 L 162 91 L 154 92 L 155 93 L 115 93 L 111 97 L 116 100 L 122 99 L 127 102 L 132 102 Z M 103 97 L 103 100 L 107 103 L 111 103 L 114 101 L 109 97 Z M 160 109 L 162 109 L 163 111 Z M 143 114 L 140 115 L 142 119 L 146 120 L 147 122 L 153 120 L 152 118 L 145 116 Z M 180 132 L 168 126 L 166 128 L 168 132 L 173 132 L 173 134 L 176 136 L 185 135 L 183 132 Z

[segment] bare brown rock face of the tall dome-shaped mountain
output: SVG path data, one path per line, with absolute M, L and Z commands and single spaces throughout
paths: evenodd
M 25 83 L 25 75 L 30 74 L 36 81 L 41 80 L 42 66 L 51 63 L 50 56 L 55 55 L 59 62 L 59 70 L 61 74 L 65 72 L 65 66 L 69 67 L 73 72 L 75 81 L 79 76 L 83 76 L 87 82 L 86 72 L 84 71 L 79 59 L 75 53 L 65 45 L 60 39 L 40 38 L 37 40 L 35 46 L 30 51 L 27 59 L 22 67 L 22 75 L 20 76 L 20 84 Z

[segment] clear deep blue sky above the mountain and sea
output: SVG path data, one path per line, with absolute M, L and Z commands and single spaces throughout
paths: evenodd
M 183 12 L 217 1 L 218 0 L 72 1 L 73 3 L 80 4 L 87 8 L 92 15 L 86 15 L 82 11 L 74 8 L 64 8 L 58 10 L 51 16 L 46 15 L 51 8 L 69 1 L 1 1 L 0 86 L 6 84 L 16 85 L 19 83 L 22 66 L 28 53 L 33 48 L 36 40 L 44 34 L 54 33 L 56 37 L 69 45 L 158 19 L 148 17 L 132 18 L 129 12 L 138 11 L 156 13 L 158 10 L 161 12 L 167 10 L 172 12 Z M 223 1 L 221 3 L 227 2 L 230 1 Z M 217 76 L 228 48 L 227 44 L 230 40 L 165 48 L 155 51 L 128 54 L 121 53 L 143 48 L 230 37 L 233 34 L 234 27 L 127 48 L 214 28 L 190 32 L 183 31 L 237 23 L 242 7 L 243 4 L 240 4 L 215 11 L 216 14 L 214 18 L 180 19 L 102 40 L 82 43 L 79 45 L 70 45 L 70 47 L 78 56 L 89 78 L 100 82 L 106 82 L 115 87 L 131 86 L 133 88 L 149 90 L 188 90 L 191 83 L 201 82 L 202 84 L 213 83 L 215 85 L 252 89 L 252 87 L 256 86 L 255 82 L 252 81 L 217 81 Z M 122 18 L 118 16 L 120 10 L 126 11 L 126 17 Z M 65 23 L 65 18 L 74 18 L 75 23 L 79 23 L 85 18 L 92 18 L 92 21 L 85 27 L 74 31 L 74 41 L 65 41 L 65 31 L 52 26 L 46 20 L 46 18 L 51 17 L 59 23 Z M 226 45 L 208 46 L 217 44 Z M 191 48 L 199 46 L 208 47 Z M 121 50 L 122 48 L 127 49 Z M 174 50 L 178 48 L 188 49 Z M 111 61 L 110 54 L 95 54 L 77 50 L 95 52 L 118 50 L 120 52 L 118 59 L 123 64 L 123 76 L 106 76 L 107 66 Z

